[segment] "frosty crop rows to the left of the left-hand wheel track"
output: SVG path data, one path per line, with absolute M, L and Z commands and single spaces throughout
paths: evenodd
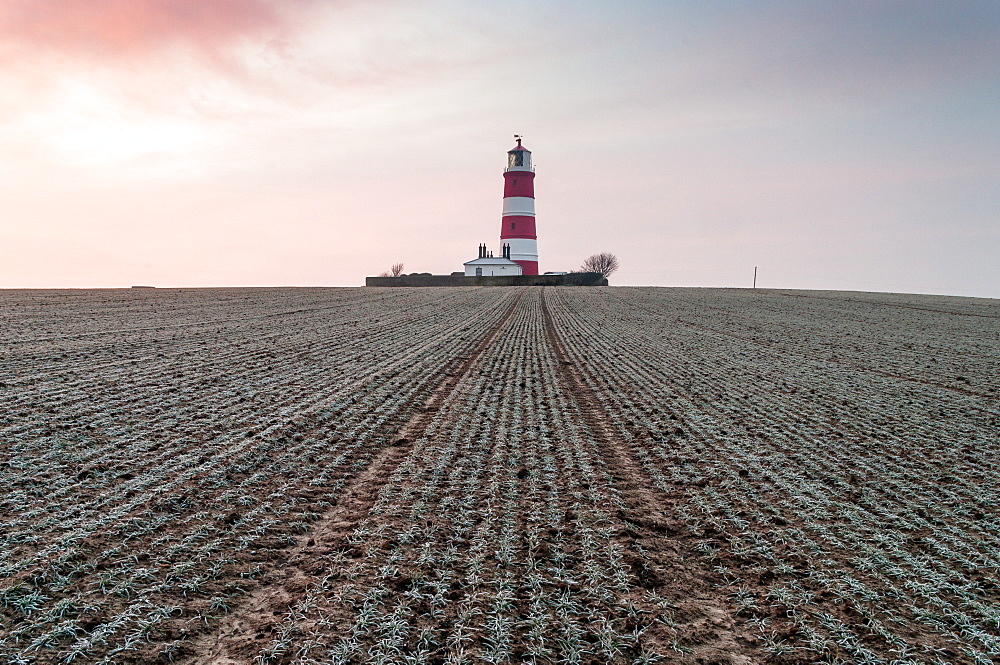
M 480 340 L 468 321 L 513 297 L 86 293 L 5 294 L 21 311 L 0 341 L 9 662 L 179 650 Z

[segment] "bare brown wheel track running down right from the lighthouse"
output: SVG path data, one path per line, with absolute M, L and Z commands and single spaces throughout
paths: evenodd
M 646 561 L 652 561 L 653 566 L 648 566 L 639 557 L 629 558 L 642 587 L 676 599 L 675 619 L 680 632 L 686 636 L 685 646 L 691 653 L 688 656 L 678 654 L 675 662 L 741 665 L 763 662 L 763 653 L 746 639 L 750 632 L 741 629 L 725 594 L 713 584 L 714 576 L 698 563 L 701 557 L 695 550 L 697 538 L 687 532 L 671 510 L 673 501 L 684 499 L 682 492 L 667 494 L 657 488 L 629 444 L 615 430 L 590 382 L 577 368 L 556 332 L 552 313 L 545 302 L 544 288 L 541 308 L 546 337 L 557 362 L 557 377 L 576 402 L 625 503 L 625 508 L 616 515 L 622 525 L 619 544 L 630 553 L 634 553 L 637 546 L 642 548 Z M 655 639 L 655 636 L 650 637 Z M 670 650 L 668 644 L 657 646 L 662 652 Z

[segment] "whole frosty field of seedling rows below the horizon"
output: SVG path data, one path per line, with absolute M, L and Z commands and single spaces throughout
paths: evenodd
M 988 663 L 1000 301 L 0 292 L 4 663 Z

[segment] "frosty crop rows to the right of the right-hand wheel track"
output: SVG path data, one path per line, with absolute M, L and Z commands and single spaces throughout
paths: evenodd
M 1000 655 L 995 308 L 614 295 L 551 292 L 567 353 L 772 654 Z

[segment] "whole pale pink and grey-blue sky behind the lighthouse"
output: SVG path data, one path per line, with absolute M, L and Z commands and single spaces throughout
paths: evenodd
M 1000 3 L 0 0 L 0 288 L 542 271 L 1000 298 Z

